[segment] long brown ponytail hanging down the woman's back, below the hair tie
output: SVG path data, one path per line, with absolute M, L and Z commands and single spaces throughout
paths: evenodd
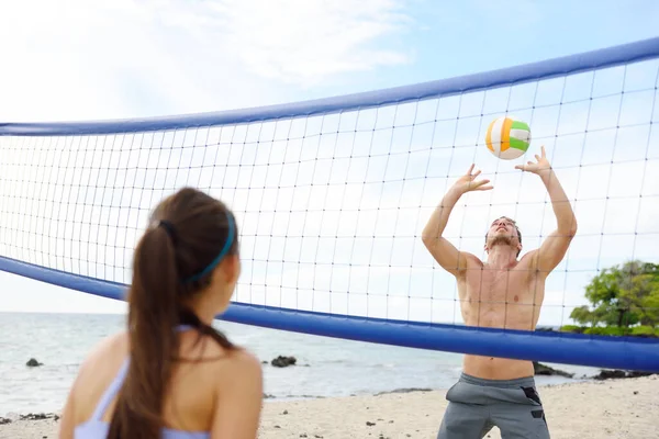
M 134 258 L 129 293 L 131 363 L 118 395 L 109 439 L 160 437 L 171 352 L 177 350 L 178 273 L 166 229 L 147 230 Z

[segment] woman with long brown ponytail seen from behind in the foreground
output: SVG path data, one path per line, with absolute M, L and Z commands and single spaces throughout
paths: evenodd
M 235 218 L 185 188 L 150 219 L 134 254 L 126 331 L 80 367 L 60 438 L 256 438 L 260 363 L 211 326 L 241 273 Z

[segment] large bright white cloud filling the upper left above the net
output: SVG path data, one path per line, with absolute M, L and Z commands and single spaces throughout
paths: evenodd
M 402 1 L 402 0 L 401 0 Z M 0 120 L 90 120 L 288 101 L 336 75 L 407 61 L 393 0 L 4 2 Z M 294 92 L 293 92 L 294 93 Z

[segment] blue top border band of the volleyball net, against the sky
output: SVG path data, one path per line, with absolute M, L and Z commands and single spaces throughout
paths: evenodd
M 412 86 L 279 105 L 188 115 L 89 122 L 0 123 L 0 136 L 63 136 L 138 133 L 236 125 L 449 97 L 521 85 L 659 57 L 659 37 L 582 54 Z

